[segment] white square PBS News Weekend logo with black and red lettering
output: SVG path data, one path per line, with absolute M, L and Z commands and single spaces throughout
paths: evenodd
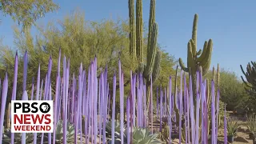
M 53 101 L 11 101 L 12 133 L 53 133 Z

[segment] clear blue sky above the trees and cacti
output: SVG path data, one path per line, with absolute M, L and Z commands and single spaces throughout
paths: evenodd
M 128 0 L 55 0 L 61 7 L 58 12 L 46 14 L 38 23 L 62 19 L 72 10 L 85 12 L 87 20 L 100 21 L 103 18 L 128 18 Z M 156 2 L 156 21 L 158 22 L 158 42 L 175 58 L 186 62 L 186 45 L 191 38 L 194 14 L 198 13 L 198 47 L 204 41 L 213 39 L 214 50 L 212 66 L 232 70 L 242 74 L 240 64 L 255 60 L 256 54 L 256 1 L 171 1 Z M 143 0 L 143 20 L 149 18 L 150 0 Z M 3 43 L 14 47 L 10 17 L 2 18 L 0 37 Z

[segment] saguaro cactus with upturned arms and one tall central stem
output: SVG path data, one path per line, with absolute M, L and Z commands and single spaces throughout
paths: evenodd
M 192 38 L 187 44 L 187 67 L 182 62 L 182 58 L 179 58 L 179 65 L 182 70 L 191 74 L 192 87 L 194 93 L 194 99 L 196 98 L 196 72 L 200 66 L 202 66 L 202 75 L 205 75 L 210 68 L 211 54 L 213 50 L 213 42 L 210 39 L 206 41 L 203 46 L 203 50 L 197 51 L 197 31 L 198 31 L 198 14 L 194 15 Z

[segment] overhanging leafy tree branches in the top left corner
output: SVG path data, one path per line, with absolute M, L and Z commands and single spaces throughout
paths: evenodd
M 52 0 L 1 0 L 0 11 L 4 16 L 10 15 L 22 29 L 32 26 L 38 18 L 58 9 Z

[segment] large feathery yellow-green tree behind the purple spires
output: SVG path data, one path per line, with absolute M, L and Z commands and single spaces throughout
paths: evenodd
M 50 22 L 46 27 L 38 27 L 38 30 L 39 34 L 36 37 L 32 37 L 30 31 L 25 31 L 24 34 L 21 34 L 18 29 L 14 30 L 14 43 L 20 55 L 18 69 L 18 83 L 20 84 L 22 83 L 22 55 L 26 50 L 29 54 L 28 89 L 31 87 L 32 77 L 36 78 L 37 76 L 39 63 L 42 76 L 46 76 L 50 55 L 53 59 L 51 78 L 54 86 L 60 48 L 62 57 L 65 54 L 66 58 L 70 58 L 70 72 L 75 74 L 77 74 L 81 62 L 87 70 L 90 60 L 95 55 L 98 58 L 98 74 L 107 66 L 110 82 L 114 72 L 118 69 L 119 58 L 122 61 L 125 82 L 129 83 L 130 70 L 135 70 L 137 67 L 137 62 L 132 62 L 132 58 L 130 58 L 129 26 L 125 21 L 104 20 L 102 22 L 90 22 L 86 21 L 84 15 L 77 11 L 59 20 L 57 24 Z M 10 79 L 12 79 L 14 69 L 14 54 L 14 50 L 4 48 L 0 55 L 0 61 L 3 64 L 3 66 L 0 66 L 0 70 L 6 70 L 6 67 L 8 67 Z M 170 74 L 174 72 L 174 65 L 174 57 L 162 50 L 160 78 L 168 80 Z M 0 74 L 4 74 L 2 71 L 0 71 Z M 167 82 L 161 83 L 167 84 Z M 129 94 L 127 90 L 126 94 Z

